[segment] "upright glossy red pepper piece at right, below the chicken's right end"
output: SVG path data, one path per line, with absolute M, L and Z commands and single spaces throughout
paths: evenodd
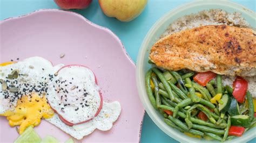
M 233 96 L 239 103 L 243 103 L 245 101 L 246 90 L 248 87 L 248 83 L 244 78 L 238 76 L 235 78 L 233 83 Z

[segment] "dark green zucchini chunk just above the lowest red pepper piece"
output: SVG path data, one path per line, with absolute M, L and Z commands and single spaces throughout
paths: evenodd
M 230 119 L 231 119 L 231 125 L 234 125 L 234 126 L 249 127 L 251 124 L 250 118 L 247 115 L 236 115 L 236 116 L 232 116 Z

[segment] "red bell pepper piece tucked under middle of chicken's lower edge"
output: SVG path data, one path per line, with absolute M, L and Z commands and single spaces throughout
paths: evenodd
M 204 73 L 198 73 L 196 76 L 193 77 L 193 80 L 198 84 L 205 86 L 206 83 L 212 80 L 215 76 L 216 74 L 212 71 L 206 71 Z

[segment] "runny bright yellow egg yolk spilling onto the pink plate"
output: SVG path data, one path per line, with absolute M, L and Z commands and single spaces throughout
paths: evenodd
M 28 126 L 38 126 L 41 118 L 49 119 L 53 116 L 54 111 L 51 109 L 44 96 L 37 94 L 23 96 L 17 101 L 15 111 L 6 111 L 1 116 L 6 116 L 9 125 L 14 127 L 19 125 L 19 134 Z

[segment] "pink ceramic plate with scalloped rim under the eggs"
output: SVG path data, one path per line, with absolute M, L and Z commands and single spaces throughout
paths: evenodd
M 122 113 L 112 129 L 96 130 L 82 142 L 139 142 L 144 109 L 137 94 L 135 66 L 110 30 L 75 12 L 39 10 L 3 20 L 0 34 L 0 62 L 42 56 L 53 65 L 85 65 L 95 72 L 104 101 L 120 102 Z M 60 58 L 62 53 L 64 58 Z M 0 142 L 18 137 L 4 117 L 0 125 Z M 62 142 L 70 138 L 45 120 L 35 130 L 42 138 L 47 134 Z

